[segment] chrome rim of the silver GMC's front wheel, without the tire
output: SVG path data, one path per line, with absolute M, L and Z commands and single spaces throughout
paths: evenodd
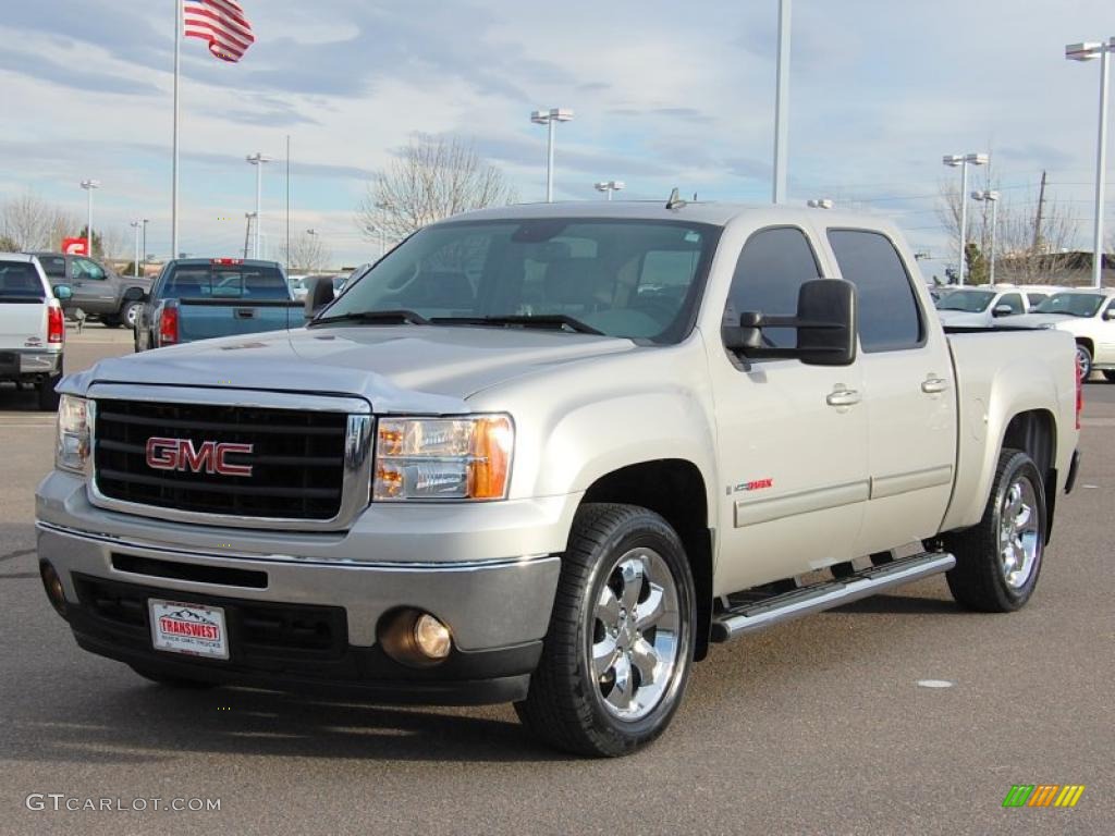
M 661 701 L 678 663 L 678 590 L 651 548 L 632 548 L 612 566 L 593 610 L 593 677 L 609 713 L 638 720 Z

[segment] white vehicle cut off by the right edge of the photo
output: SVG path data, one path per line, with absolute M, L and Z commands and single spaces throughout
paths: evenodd
M 1063 290 L 1019 322 L 1051 325 L 1073 334 L 1080 379 L 1103 371 L 1107 380 L 1115 382 L 1115 288 Z

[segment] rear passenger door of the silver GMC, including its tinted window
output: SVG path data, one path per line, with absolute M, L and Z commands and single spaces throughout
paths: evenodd
M 928 537 L 944 516 L 957 449 L 952 361 L 894 241 L 852 229 L 827 239 L 857 291 L 871 498 L 855 552 L 865 555 Z

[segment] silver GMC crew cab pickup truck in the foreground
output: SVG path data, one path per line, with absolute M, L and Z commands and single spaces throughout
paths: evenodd
M 304 329 L 66 378 L 42 579 L 158 682 L 511 701 L 622 755 L 710 642 L 935 573 L 1022 606 L 1077 468 L 1074 358 L 947 337 L 875 217 L 467 214 Z

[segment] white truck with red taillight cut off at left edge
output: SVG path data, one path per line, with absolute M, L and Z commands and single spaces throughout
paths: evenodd
M 43 410 L 58 409 L 66 347 L 59 300 L 68 297 L 65 284 L 50 286 L 33 255 L 0 253 L 0 381 L 35 387 Z

